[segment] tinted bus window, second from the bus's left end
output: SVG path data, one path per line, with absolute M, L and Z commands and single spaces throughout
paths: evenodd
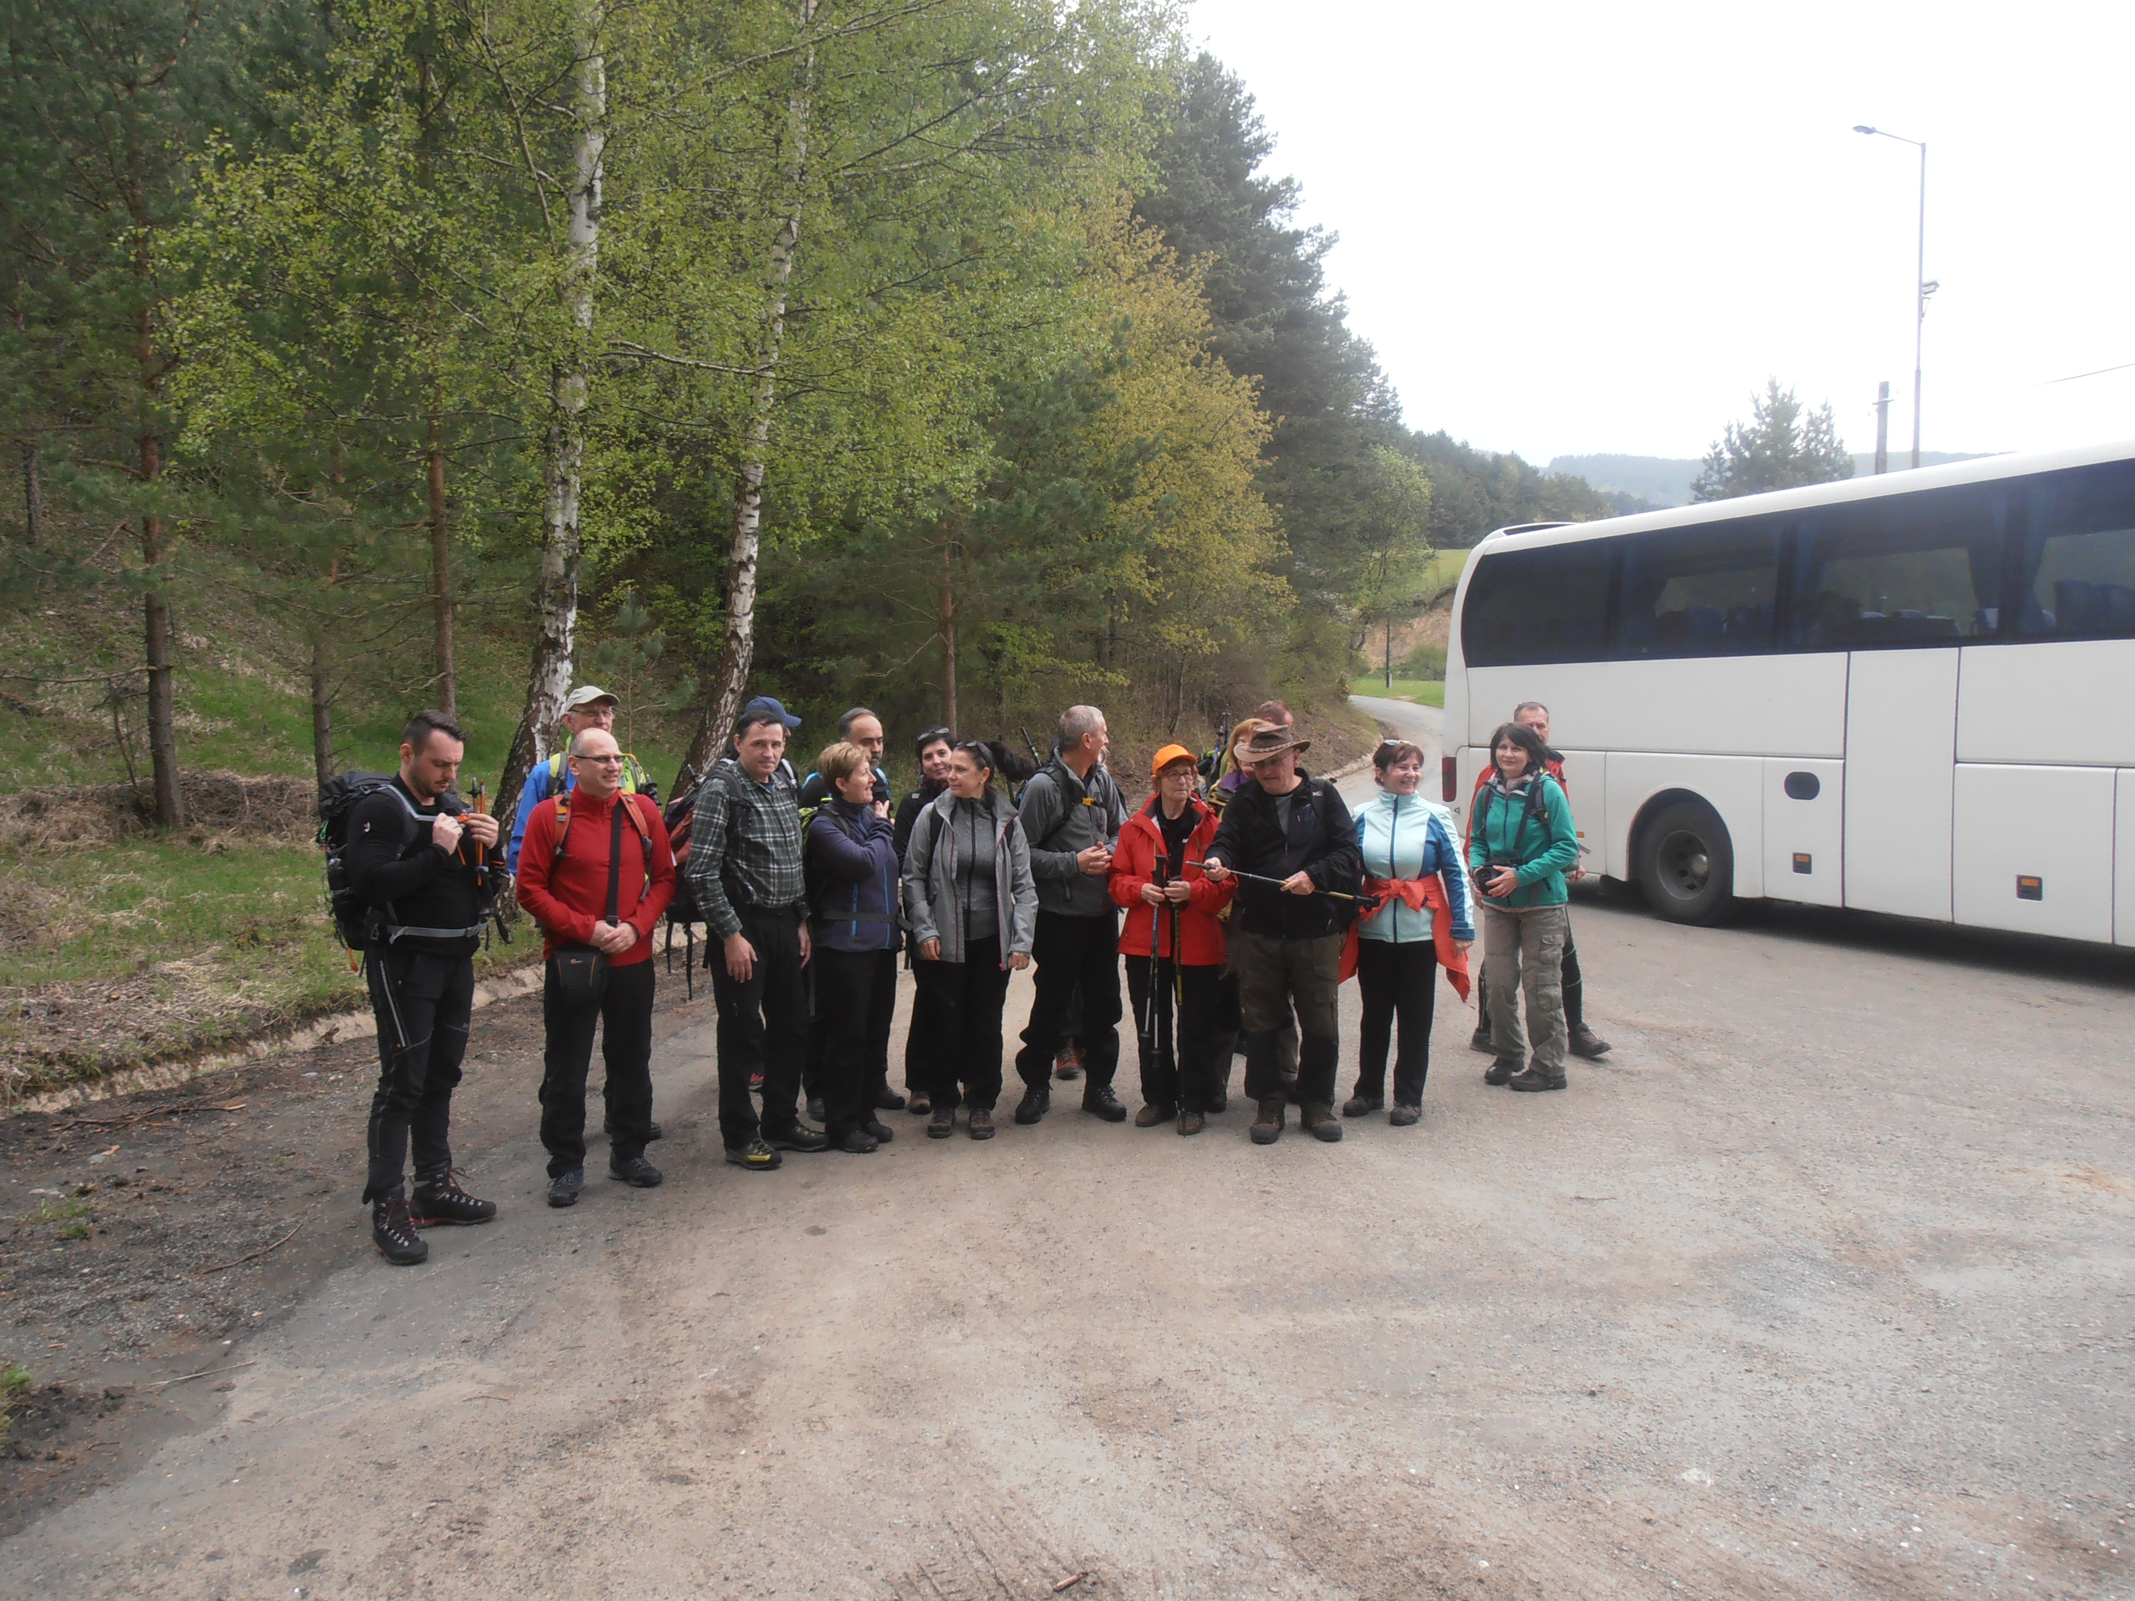
M 1616 655 L 1757 655 L 1776 602 L 1776 521 L 1640 534 L 1623 557 Z

